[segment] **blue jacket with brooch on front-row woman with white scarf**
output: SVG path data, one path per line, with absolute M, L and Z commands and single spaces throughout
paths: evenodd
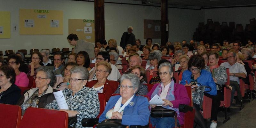
M 105 107 L 104 112 L 100 115 L 99 122 L 102 122 L 106 119 L 106 113 L 109 109 L 114 108 L 116 105 L 117 100 L 121 97 L 121 95 L 112 96 L 108 100 L 108 103 Z M 149 102 L 146 97 L 143 96 L 134 96 L 131 100 L 134 102 L 132 106 L 128 104 L 124 108 L 124 113 L 122 117 L 122 124 L 123 125 L 141 125 L 145 126 L 149 122 Z

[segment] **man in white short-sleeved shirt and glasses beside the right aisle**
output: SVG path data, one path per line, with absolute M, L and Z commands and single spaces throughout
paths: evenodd
M 237 98 L 241 102 L 243 101 L 241 92 L 240 92 L 240 81 L 238 77 L 245 78 L 247 75 L 247 72 L 244 68 L 244 65 L 236 62 L 236 53 L 234 52 L 228 52 L 227 54 L 227 60 L 228 62 L 224 62 L 220 64 L 220 66 L 223 66 L 225 68 L 229 68 L 229 78 L 230 78 L 230 86 L 231 88 L 231 103 L 234 99 L 234 94 L 237 92 Z

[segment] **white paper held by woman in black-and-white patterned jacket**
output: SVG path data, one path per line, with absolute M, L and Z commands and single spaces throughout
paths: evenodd
M 68 105 L 67 105 L 67 102 L 65 100 L 65 97 L 64 97 L 62 91 L 60 90 L 58 92 L 53 92 L 53 95 L 57 101 L 59 108 L 68 110 Z

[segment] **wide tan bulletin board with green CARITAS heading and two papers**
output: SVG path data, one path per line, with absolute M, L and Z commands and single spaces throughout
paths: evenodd
M 63 35 L 63 11 L 20 9 L 20 35 Z

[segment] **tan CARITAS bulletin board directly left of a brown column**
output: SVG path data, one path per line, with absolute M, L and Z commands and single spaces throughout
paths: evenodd
M 68 34 L 76 34 L 79 39 L 94 42 L 94 20 L 68 19 Z

